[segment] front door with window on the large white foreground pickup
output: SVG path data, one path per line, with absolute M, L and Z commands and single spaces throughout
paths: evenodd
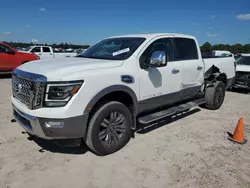
M 174 61 L 174 38 L 153 41 L 140 56 L 140 112 L 152 111 L 180 101 L 181 63 Z M 154 51 L 165 51 L 167 65 L 143 69 Z

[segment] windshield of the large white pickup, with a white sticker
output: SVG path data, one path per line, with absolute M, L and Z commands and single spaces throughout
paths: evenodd
M 78 55 L 78 57 L 125 60 L 129 58 L 145 40 L 145 38 L 135 37 L 104 39 L 88 48 Z

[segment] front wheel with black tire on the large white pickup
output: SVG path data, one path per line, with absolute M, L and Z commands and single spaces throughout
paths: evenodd
M 98 155 L 115 153 L 129 142 L 132 123 L 132 115 L 124 104 L 107 102 L 92 116 L 85 143 Z

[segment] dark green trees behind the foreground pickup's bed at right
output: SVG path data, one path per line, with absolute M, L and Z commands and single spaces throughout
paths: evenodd
M 202 52 L 211 52 L 212 50 L 226 50 L 230 51 L 233 54 L 237 53 L 250 53 L 250 44 L 242 45 L 242 44 L 215 44 L 211 45 L 209 42 L 204 43 L 201 47 Z

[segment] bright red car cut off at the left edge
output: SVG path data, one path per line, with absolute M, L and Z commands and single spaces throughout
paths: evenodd
M 16 67 L 29 61 L 40 59 L 30 52 L 20 52 L 11 46 L 0 42 L 0 74 L 10 73 Z

